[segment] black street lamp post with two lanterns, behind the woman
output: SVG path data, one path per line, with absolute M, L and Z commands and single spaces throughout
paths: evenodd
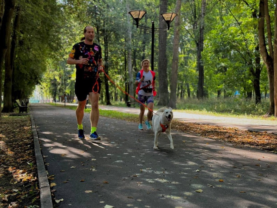
M 154 21 L 152 21 L 152 27 L 151 28 L 139 25 L 139 21 L 146 14 L 145 11 L 133 10 L 133 11 L 128 12 L 128 14 L 130 14 L 132 16 L 132 18 L 134 19 L 134 21 L 136 21 L 136 28 L 141 27 L 141 28 L 145 28 L 145 29 L 151 29 L 151 34 L 152 34 L 152 40 L 151 40 L 151 69 L 152 69 L 152 71 L 154 71 L 154 31 L 155 31 L 155 29 L 163 29 L 163 28 L 155 28 Z M 163 13 L 161 15 L 162 15 L 164 21 L 167 23 L 167 30 L 169 30 L 169 27 L 170 27 L 169 25 L 174 20 L 175 16 L 177 16 L 177 14 L 176 13 Z

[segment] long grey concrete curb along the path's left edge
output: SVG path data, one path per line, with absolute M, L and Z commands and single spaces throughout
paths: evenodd
M 33 137 L 34 137 L 34 149 L 35 149 L 35 160 L 36 160 L 37 170 L 38 170 L 38 181 L 40 184 L 40 207 L 53 208 L 50 186 L 46 175 L 44 161 L 40 151 L 40 142 L 38 140 L 38 133 L 35 128 L 35 122 L 34 122 L 33 116 L 30 115 L 30 118 L 32 122 L 32 131 L 33 131 Z

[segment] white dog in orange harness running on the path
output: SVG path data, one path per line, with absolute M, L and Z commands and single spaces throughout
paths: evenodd
M 155 134 L 153 149 L 158 149 L 158 136 L 162 132 L 166 133 L 167 137 L 170 140 L 170 148 L 174 149 L 173 140 L 172 140 L 171 133 L 170 133 L 172 119 L 173 119 L 173 112 L 172 112 L 171 107 L 169 107 L 169 108 L 162 107 L 162 108 L 158 109 L 156 114 L 153 114 L 152 126 L 153 126 L 153 131 Z

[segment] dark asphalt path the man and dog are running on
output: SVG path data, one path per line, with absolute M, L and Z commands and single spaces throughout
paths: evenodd
M 89 114 L 79 140 L 74 110 L 31 103 L 30 113 L 54 207 L 277 207 L 274 153 L 177 131 L 174 150 L 166 134 L 153 150 L 153 131 L 102 116 L 92 141 Z

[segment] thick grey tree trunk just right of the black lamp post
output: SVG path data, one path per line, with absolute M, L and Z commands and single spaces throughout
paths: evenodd
M 160 14 L 167 12 L 167 0 L 160 0 Z M 158 105 L 167 106 L 169 104 L 169 93 L 168 93 L 168 81 L 167 81 L 167 58 L 166 58 L 166 22 L 162 16 L 159 18 L 159 60 L 158 60 L 158 80 L 159 90 Z M 154 66 L 151 66 L 154 69 Z

